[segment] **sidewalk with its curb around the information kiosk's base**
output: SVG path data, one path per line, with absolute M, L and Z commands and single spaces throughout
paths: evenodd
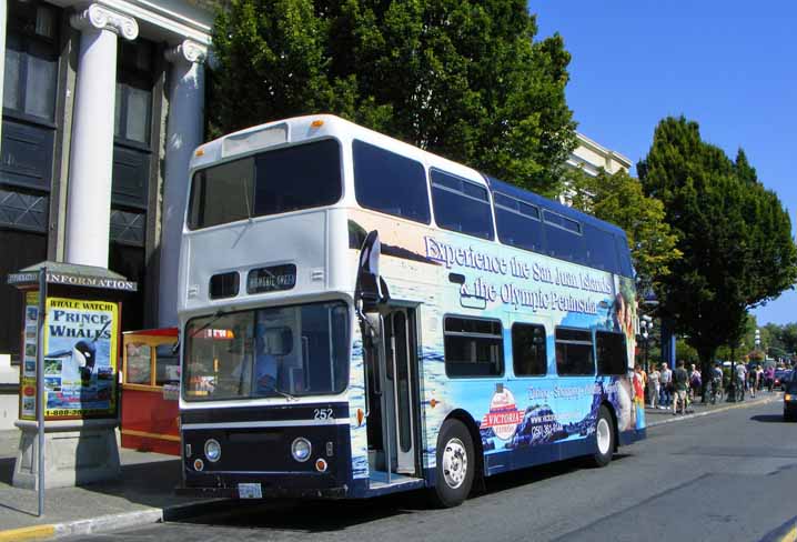
M 49 489 L 44 515 L 37 518 L 37 492 L 11 485 L 18 443 L 18 430 L 0 431 L 0 542 L 123 529 L 199 515 L 233 502 L 176 496 L 178 458 L 120 448 L 121 479 Z

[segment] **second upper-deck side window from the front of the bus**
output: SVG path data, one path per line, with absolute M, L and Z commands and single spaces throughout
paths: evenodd
M 432 170 L 432 204 L 438 227 L 493 239 L 493 211 L 484 187 Z

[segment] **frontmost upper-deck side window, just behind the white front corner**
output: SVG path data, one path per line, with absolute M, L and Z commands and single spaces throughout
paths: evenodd
M 426 173 L 421 162 L 357 140 L 352 143 L 352 152 L 357 203 L 430 223 Z

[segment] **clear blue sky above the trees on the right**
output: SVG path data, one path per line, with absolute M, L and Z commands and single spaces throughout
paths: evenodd
M 684 114 L 732 158 L 745 149 L 797 231 L 797 2 L 537 0 L 538 38 L 573 56 L 567 101 L 578 131 L 636 164 L 656 123 Z M 797 292 L 754 313 L 797 321 Z

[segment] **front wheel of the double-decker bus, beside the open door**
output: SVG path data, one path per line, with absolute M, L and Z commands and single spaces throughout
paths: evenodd
M 476 468 L 473 441 L 460 420 L 446 420 L 437 435 L 436 483 L 433 504 L 440 508 L 458 506 L 471 493 Z

